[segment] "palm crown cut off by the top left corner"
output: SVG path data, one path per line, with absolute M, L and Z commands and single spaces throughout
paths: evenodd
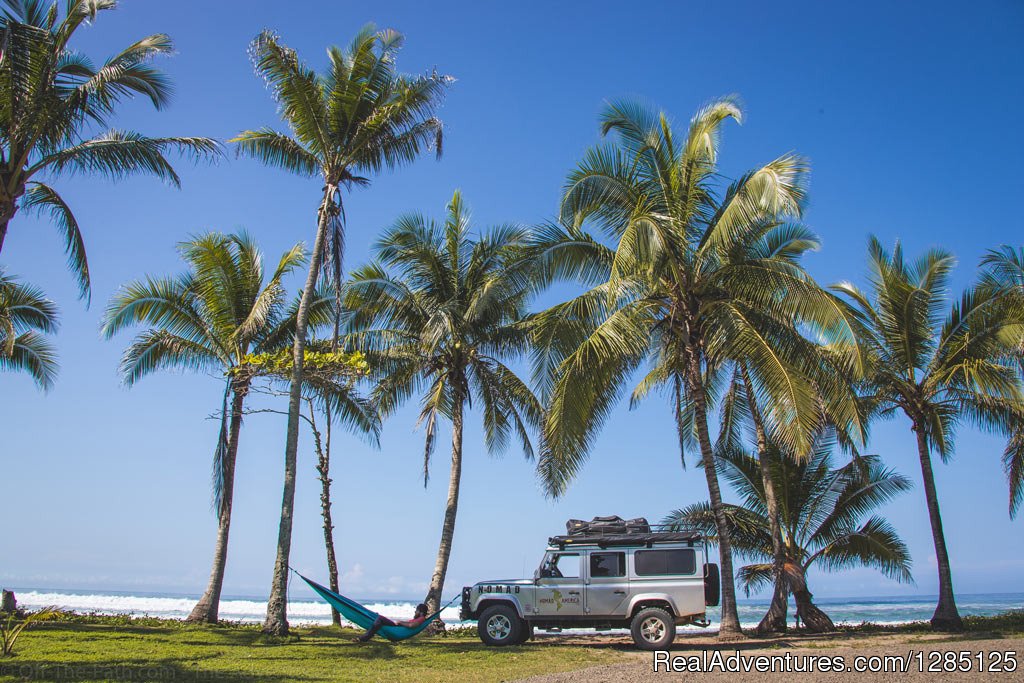
M 4 0 L 0 15 L 0 251 L 11 219 L 26 209 L 49 215 L 60 230 L 68 266 L 79 293 L 89 296 L 85 242 L 71 207 L 47 182 L 73 173 L 111 179 L 150 173 L 174 185 L 178 176 L 168 151 L 196 157 L 219 155 L 206 137 L 146 137 L 105 130 L 118 105 L 134 95 L 163 109 L 170 84 L 152 66 L 173 50 L 163 34 L 129 45 L 102 66 L 74 50 L 71 40 L 83 25 L 117 7 L 115 0 L 69 0 L 63 16 L 57 3 Z

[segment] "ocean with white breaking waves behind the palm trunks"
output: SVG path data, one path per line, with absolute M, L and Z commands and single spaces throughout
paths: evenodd
M 162 618 L 184 618 L 196 604 L 198 596 L 162 593 L 120 593 L 116 591 L 63 591 L 44 589 L 13 589 L 18 605 L 36 609 L 56 605 L 77 612 L 101 614 L 148 615 Z M 928 621 L 935 609 L 935 596 L 820 598 L 815 603 L 837 624 L 858 625 L 905 624 Z M 416 603 L 409 600 L 366 600 L 364 604 L 376 612 L 397 618 L 410 618 Z M 1011 609 L 1024 608 L 1024 593 L 977 593 L 956 596 L 961 614 L 989 616 Z M 768 606 L 767 600 L 740 600 L 739 620 L 744 628 L 757 626 Z M 259 623 L 266 614 L 266 601 L 255 597 L 225 596 L 220 601 L 220 617 L 233 622 Z M 790 618 L 796 610 L 791 605 Z M 313 598 L 290 599 L 289 621 L 293 625 L 331 623 L 328 605 Z M 709 610 L 709 618 L 717 621 L 718 610 Z M 444 609 L 445 624 L 458 625 L 458 603 Z M 695 627 L 687 627 L 697 630 Z M 714 628 L 714 627 L 713 627 Z

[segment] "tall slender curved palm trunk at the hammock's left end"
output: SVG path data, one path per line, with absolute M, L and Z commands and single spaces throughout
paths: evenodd
M 288 431 L 285 437 L 285 486 L 281 501 L 281 523 L 278 526 L 278 557 L 273 564 L 273 579 L 270 597 L 266 602 L 266 618 L 263 633 L 275 636 L 288 635 L 288 560 L 292 552 L 292 514 L 295 510 L 295 468 L 299 451 L 299 412 L 302 410 L 302 360 L 306 349 L 306 323 L 309 319 L 309 303 L 312 301 L 319 276 L 321 257 L 328 222 L 331 219 L 334 186 L 324 188 L 316 225 L 316 239 L 309 255 L 309 272 L 306 286 L 299 300 L 299 310 L 295 319 L 295 342 L 292 346 L 292 386 L 288 393 Z

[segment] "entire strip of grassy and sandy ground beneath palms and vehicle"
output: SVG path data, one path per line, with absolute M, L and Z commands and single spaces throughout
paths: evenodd
M 996 617 L 967 617 L 957 634 L 933 633 L 927 624 L 900 627 L 845 627 L 831 634 L 791 632 L 781 636 L 748 635 L 719 643 L 715 634 L 680 635 L 669 654 L 700 657 L 779 657 L 802 660 L 822 656 L 895 656 L 908 651 L 1013 651 L 1017 680 L 1024 672 L 1024 610 Z M 379 640 L 359 643 L 354 629 L 296 628 L 286 638 L 265 636 L 256 624 L 191 625 L 178 620 L 59 614 L 32 626 L 19 640 L 15 657 L 0 660 L 0 683 L 24 680 L 153 681 L 224 680 L 335 683 L 571 683 L 588 680 L 634 683 L 650 680 L 653 653 L 638 651 L 625 634 L 538 634 L 523 644 L 488 647 L 475 629 L 452 629 L 394 645 Z M 913 672 L 910 672 L 911 677 Z M 701 679 L 716 683 L 759 683 L 766 676 L 785 681 L 848 683 L 902 680 L 901 676 L 830 672 L 815 674 L 744 674 L 713 671 Z M 934 677 L 935 674 L 927 674 Z M 665 677 L 660 672 L 655 678 Z M 692 674 L 669 674 L 683 680 Z M 757 678 L 755 678 L 755 676 Z M 992 674 L 969 672 L 944 680 L 982 681 Z M 922 676 L 919 680 L 924 681 Z

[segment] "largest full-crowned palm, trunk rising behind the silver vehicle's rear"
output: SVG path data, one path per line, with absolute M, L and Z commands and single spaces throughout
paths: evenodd
M 541 228 L 531 247 L 539 280 L 592 286 L 534 321 L 548 403 L 540 471 L 549 494 L 560 495 L 579 471 L 621 389 L 644 364 L 649 372 L 633 402 L 668 391 L 680 446 L 696 441 L 716 511 L 722 501 L 708 414 L 723 364 L 744 360 L 770 397 L 766 419 L 794 452 L 808 450 L 820 398 L 793 365 L 813 346 L 794 334 L 793 319 L 835 342 L 852 339 L 852 330 L 847 311 L 796 263 L 810 239 L 790 223 L 802 211 L 805 162 L 782 156 L 716 194 L 719 129 L 739 117 L 734 100 L 713 102 L 677 139 L 664 113 L 608 105 L 601 130 L 614 133 L 614 143 L 587 153 L 569 175 L 560 222 Z M 613 246 L 584 231 L 587 222 Z M 719 521 L 720 637 L 731 639 L 741 633 L 724 514 Z

